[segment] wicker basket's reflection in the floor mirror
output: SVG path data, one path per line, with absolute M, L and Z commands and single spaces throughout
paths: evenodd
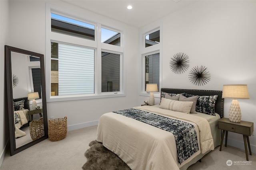
M 33 120 L 29 123 L 30 137 L 32 141 L 44 136 L 44 119 L 40 117 L 39 120 Z

